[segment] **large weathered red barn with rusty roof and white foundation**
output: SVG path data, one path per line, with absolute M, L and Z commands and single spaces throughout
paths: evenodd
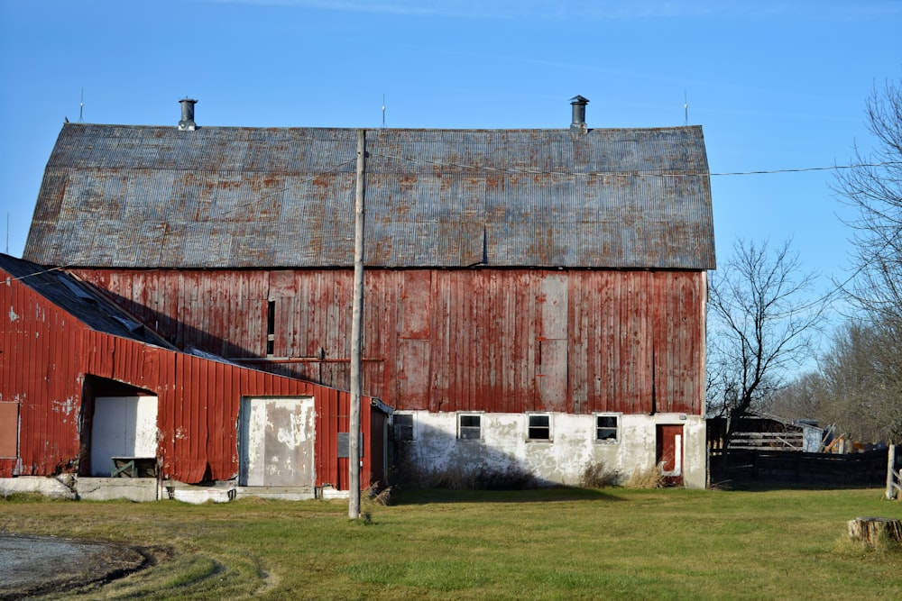
M 364 394 L 402 468 L 704 487 L 697 126 L 365 132 Z M 180 350 L 348 388 L 357 131 L 67 123 L 25 258 Z

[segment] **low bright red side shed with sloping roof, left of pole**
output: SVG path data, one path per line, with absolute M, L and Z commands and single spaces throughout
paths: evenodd
M 350 395 L 177 351 L 95 288 L 0 255 L 0 478 L 145 473 L 185 484 L 347 488 Z M 364 397 L 362 483 L 388 415 Z M 149 473 L 147 473 L 149 472 Z

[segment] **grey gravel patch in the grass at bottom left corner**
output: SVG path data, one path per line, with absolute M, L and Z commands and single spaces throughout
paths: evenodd
M 142 552 L 115 544 L 0 534 L 0 599 L 121 578 L 148 563 Z

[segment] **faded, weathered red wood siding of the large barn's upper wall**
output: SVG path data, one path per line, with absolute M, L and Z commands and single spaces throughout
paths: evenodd
M 350 270 L 78 275 L 158 322 L 179 346 L 348 386 Z M 705 278 L 704 271 L 368 270 L 364 392 L 396 409 L 702 414 Z M 262 361 L 271 300 L 275 349 Z

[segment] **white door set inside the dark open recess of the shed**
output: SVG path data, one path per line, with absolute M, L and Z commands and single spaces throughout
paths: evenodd
M 94 399 L 92 476 L 109 477 L 114 457 L 156 456 L 156 396 L 97 396 Z

